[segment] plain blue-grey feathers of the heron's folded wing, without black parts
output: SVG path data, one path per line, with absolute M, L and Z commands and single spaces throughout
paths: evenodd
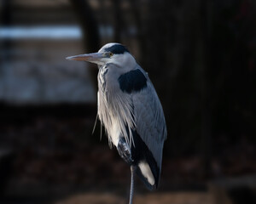
M 132 95 L 134 120 L 137 133 L 147 144 L 158 166 L 161 167 L 163 144 L 167 134 L 166 120 L 154 86 L 145 71 L 143 73 L 148 79 L 147 88 Z

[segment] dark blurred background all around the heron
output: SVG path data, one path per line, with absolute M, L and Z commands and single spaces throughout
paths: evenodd
M 0 203 L 126 203 L 130 168 L 100 139 L 96 65 L 121 42 L 168 128 L 160 188 L 135 203 L 256 203 L 256 1 L 0 0 Z

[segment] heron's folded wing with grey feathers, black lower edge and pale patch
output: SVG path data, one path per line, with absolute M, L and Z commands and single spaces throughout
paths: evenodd
M 148 75 L 138 66 L 147 79 L 147 87 L 132 95 L 136 133 L 132 154 L 139 156 L 137 174 L 149 189 L 158 187 L 162 151 L 166 140 L 166 121 L 160 99 Z M 133 153 L 136 152 L 136 153 Z M 149 170 L 150 169 L 150 170 Z

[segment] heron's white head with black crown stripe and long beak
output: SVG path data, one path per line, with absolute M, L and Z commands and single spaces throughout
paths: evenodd
M 134 57 L 124 45 L 111 42 L 104 45 L 97 53 L 79 54 L 67 57 L 68 60 L 88 61 L 102 66 L 107 63 L 118 66 L 119 68 L 133 69 L 137 64 Z

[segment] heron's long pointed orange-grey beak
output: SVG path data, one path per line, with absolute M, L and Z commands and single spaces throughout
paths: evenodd
M 102 58 L 106 56 L 102 53 L 92 53 L 92 54 L 79 54 L 75 56 L 67 57 L 67 60 L 76 60 L 76 61 L 88 61 L 96 64 L 102 63 Z

